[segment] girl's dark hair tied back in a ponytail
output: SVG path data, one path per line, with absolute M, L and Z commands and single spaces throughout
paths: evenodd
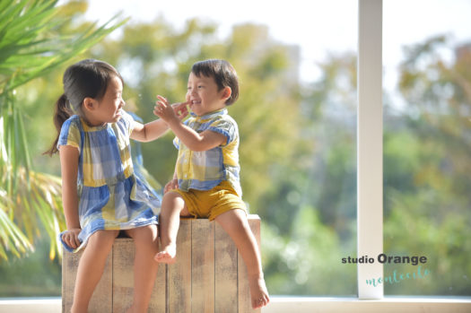
M 65 120 L 74 114 L 84 118 L 82 104 L 85 98 L 101 100 L 106 93 L 108 83 L 113 77 L 118 77 L 124 84 L 118 71 L 106 62 L 85 59 L 70 65 L 64 73 L 64 94 L 56 102 L 54 126 L 57 137 L 50 149 L 44 154 L 52 156 L 56 153 L 60 130 Z

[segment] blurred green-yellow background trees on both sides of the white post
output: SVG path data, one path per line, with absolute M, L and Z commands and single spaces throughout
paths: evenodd
M 70 27 L 66 23 L 61 30 Z M 240 76 L 240 100 L 229 111 L 240 126 L 244 200 L 262 217 L 270 292 L 352 295 L 356 268 L 341 259 L 355 256 L 354 54 L 327 57 L 318 64 L 321 77 L 301 85 L 292 71 L 298 66 L 296 48 L 271 39 L 267 27 L 238 25 L 224 39 L 216 30 L 217 25 L 197 19 L 176 30 L 161 17 L 126 24 L 120 37 L 100 40 L 84 56 L 118 67 L 126 83 L 126 109 L 144 122 L 155 118 L 151 112 L 156 94 L 171 101 L 184 99 L 194 62 L 229 60 Z M 387 294 L 470 294 L 471 49 L 456 48 L 456 57 L 448 62 L 440 54 L 443 49 L 450 49 L 445 37 L 407 48 L 399 83 L 405 109 L 397 111 L 395 99 L 385 95 L 385 253 L 427 256 L 426 267 L 432 271 L 429 279 L 386 286 Z M 50 118 L 50 107 L 60 95 L 62 72 L 58 66 L 14 95 L 16 103 L 22 103 L 19 116 L 27 121 L 22 131 L 30 139 L 34 163 L 54 174 L 57 161 L 39 157 L 39 152 L 52 139 L 52 123 L 45 124 L 44 117 Z M 145 169 L 161 184 L 173 173 L 172 139 L 166 135 L 142 145 Z M 52 182 L 48 188 L 57 188 L 57 181 Z M 41 192 L 43 198 L 48 193 L 58 196 L 57 189 Z M 0 222 L 9 222 L 10 232 L 21 236 L 24 226 L 11 214 L 0 210 Z M 60 214 L 54 219 L 60 227 Z M 3 225 L 0 236 L 2 230 Z M 385 274 L 411 272 L 412 266 L 386 265 Z M 0 267 L 2 277 L 8 270 Z

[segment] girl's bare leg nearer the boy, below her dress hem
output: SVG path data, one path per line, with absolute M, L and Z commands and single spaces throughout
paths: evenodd
M 135 242 L 134 299 L 127 312 L 147 312 L 158 269 L 158 264 L 153 261 L 159 251 L 157 225 L 126 230 L 126 233 Z

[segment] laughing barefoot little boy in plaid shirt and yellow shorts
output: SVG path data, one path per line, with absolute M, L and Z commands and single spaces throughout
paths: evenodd
M 247 265 L 254 309 L 266 306 L 268 291 L 257 241 L 241 199 L 239 130 L 226 106 L 239 97 L 234 68 L 224 60 L 205 60 L 191 68 L 186 96 L 192 117 L 182 123 L 168 101 L 158 96 L 154 114 L 175 133 L 179 157 L 161 205 L 162 250 L 154 258 L 172 264 L 176 257 L 179 216 L 209 218 L 234 240 Z

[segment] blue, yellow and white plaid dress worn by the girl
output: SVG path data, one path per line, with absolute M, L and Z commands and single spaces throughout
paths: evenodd
M 81 117 L 69 117 L 62 126 L 57 148 L 71 145 L 79 150 L 77 193 L 82 231 L 76 252 L 97 230 L 129 230 L 158 223 L 161 199 L 135 175 L 129 135 L 133 117 L 123 111 L 116 122 L 87 126 Z

